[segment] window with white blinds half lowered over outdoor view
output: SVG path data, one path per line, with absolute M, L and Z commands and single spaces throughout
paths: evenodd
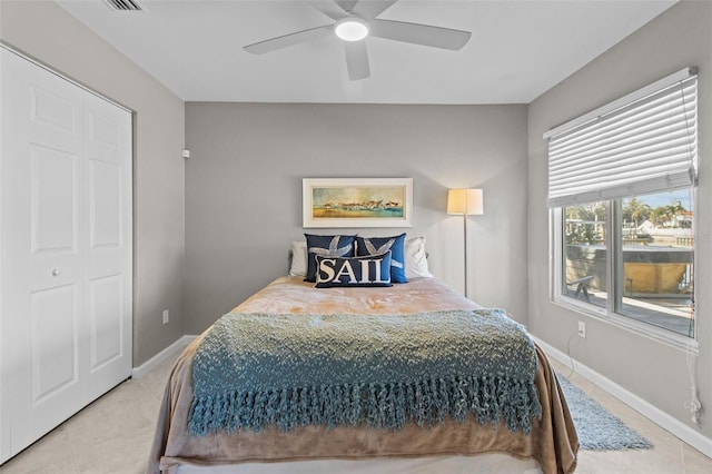
M 694 338 L 695 70 L 545 138 L 554 300 Z

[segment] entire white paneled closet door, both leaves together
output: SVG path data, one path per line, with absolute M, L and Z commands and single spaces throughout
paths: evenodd
M 0 52 L 3 462 L 130 375 L 131 130 Z

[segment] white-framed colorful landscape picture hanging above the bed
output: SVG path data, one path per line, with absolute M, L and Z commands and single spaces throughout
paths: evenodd
M 304 178 L 304 227 L 411 227 L 413 178 Z

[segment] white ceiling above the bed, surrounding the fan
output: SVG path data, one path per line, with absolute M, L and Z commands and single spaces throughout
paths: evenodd
M 399 0 L 378 18 L 472 38 L 459 51 L 367 38 L 360 81 L 336 37 L 243 50 L 332 22 L 305 1 L 137 0 L 142 12 L 56 1 L 186 101 L 528 103 L 676 0 Z

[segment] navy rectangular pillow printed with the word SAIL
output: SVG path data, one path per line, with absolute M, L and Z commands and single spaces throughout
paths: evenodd
M 316 287 L 392 286 L 390 251 L 367 257 L 323 257 L 317 255 Z

